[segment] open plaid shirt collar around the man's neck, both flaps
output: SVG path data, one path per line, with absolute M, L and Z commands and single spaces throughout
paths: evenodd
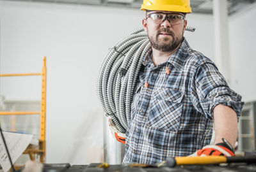
M 168 58 L 167 62 L 172 64 L 175 68 L 181 68 L 182 64 L 186 60 L 186 55 L 188 54 L 188 50 L 190 49 L 186 38 L 183 39 L 180 48 Z M 142 60 L 142 64 L 147 66 L 150 54 L 152 53 L 152 48 L 148 50 L 145 57 Z

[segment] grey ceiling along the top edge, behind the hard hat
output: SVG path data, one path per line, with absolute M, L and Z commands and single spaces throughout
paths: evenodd
M 77 5 L 112 6 L 117 8 L 139 9 L 143 0 L 0 0 L 0 1 L 24 1 L 65 3 Z M 228 14 L 232 15 L 246 6 L 256 3 L 256 0 L 228 0 Z M 193 13 L 212 14 L 212 0 L 191 0 Z

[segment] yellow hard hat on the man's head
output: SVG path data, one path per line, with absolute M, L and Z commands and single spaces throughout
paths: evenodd
M 190 0 L 144 0 L 140 10 L 161 10 L 191 13 Z

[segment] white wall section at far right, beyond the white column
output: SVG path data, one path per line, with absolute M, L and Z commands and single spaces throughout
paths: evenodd
M 229 22 L 231 87 L 243 101 L 256 101 L 256 3 L 232 15 Z

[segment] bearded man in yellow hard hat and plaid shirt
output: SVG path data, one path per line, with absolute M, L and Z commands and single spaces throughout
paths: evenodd
M 152 50 L 142 61 L 123 162 L 153 164 L 194 152 L 234 155 L 241 96 L 183 37 L 189 0 L 144 0 L 141 10 L 146 11 L 143 28 Z M 205 147 L 213 122 L 214 145 Z

